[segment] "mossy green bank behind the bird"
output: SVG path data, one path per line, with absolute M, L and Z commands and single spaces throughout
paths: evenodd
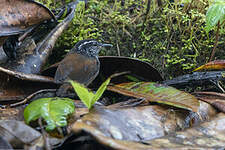
M 165 78 L 204 64 L 213 49 L 216 33 L 215 29 L 209 34 L 204 30 L 208 0 L 189 3 L 163 0 L 160 6 L 152 0 L 146 13 L 147 3 L 147 0 L 89 0 L 87 7 L 80 4 L 69 29 L 55 47 L 54 57 L 61 59 L 64 50 L 71 49 L 79 40 L 95 38 L 114 45 L 100 55 L 148 61 Z M 222 27 L 216 59 L 225 59 L 224 41 Z

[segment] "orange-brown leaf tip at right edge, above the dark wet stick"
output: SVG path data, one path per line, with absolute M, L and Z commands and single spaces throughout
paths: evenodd
M 225 69 L 225 60 L 214 60 L 196 68 L 194 71 L 201 70 L 222 70 Z

